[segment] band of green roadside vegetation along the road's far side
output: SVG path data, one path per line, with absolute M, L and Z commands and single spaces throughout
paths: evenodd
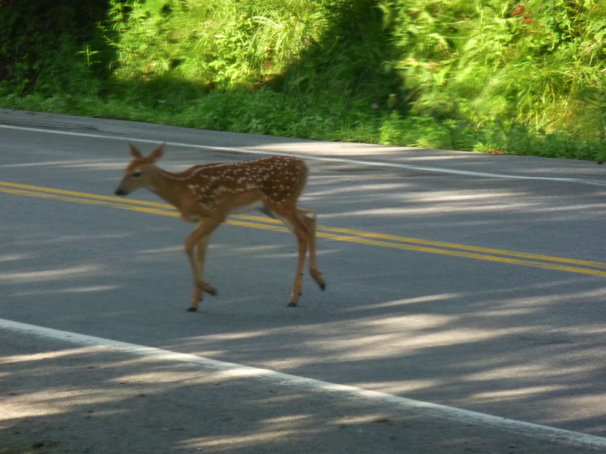
M 606 159 L 599 0 L 0 0 L 0 107 Z

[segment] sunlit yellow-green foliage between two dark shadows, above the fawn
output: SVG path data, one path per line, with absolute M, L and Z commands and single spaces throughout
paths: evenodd
M 119 79 L 171 74 L 202 86 L 255 88 L 304 48 L 317 15 L 306 0 L 112 0 Z

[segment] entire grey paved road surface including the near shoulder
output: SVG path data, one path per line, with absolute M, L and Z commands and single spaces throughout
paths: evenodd
M 304 157 L 327 290 L 285 307 L 295 241 L 251 212 L 185 312 L 192 226 L 113 197 L 125 140 L 172 170 Z M 0 111 L 0 441 L 104 452 L 147 418 L 110 446 L 606 452 L 605 194 L 591 162 Z

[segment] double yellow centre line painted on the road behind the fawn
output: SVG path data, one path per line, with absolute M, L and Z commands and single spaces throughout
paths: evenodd
M 128 209 L 149 214 L 178 217 L 179 213 L 170 205 L 142 200 L 119 199 L 118 197 L 98 196 L 85 192 L 64 191 L 63 189 L 42 188 L 40 186 L 21 185 L 0 182 L 0 192 L 19 196 L 42 197 L 63 200 L 64 202 L 104 205 L 111 208 Z M 250 215 L 232 215 L 226 221 L 229 225 L 287 232 L 276 219 Z M 488 262 L 508 263 L 510 265 L 533 266 L 535 268 L 590 274 L 606 277 L 606 263 L 576 260 L 573 258 L 553 257 L 551 255 L 527 254 L 526 252 L 504 251 L 502 249 L 481 248 L 478 246 L 458 245 L 430 240 L 422 240 L 397 235 L 365 232 L 354 229 L 318 225 L 318 237 L 336 241 L 359 243 L 382 248 L 404 249 L 405 251 L 427 252 L 430 254 L 451 255 L 453 257 L 474 258 Z

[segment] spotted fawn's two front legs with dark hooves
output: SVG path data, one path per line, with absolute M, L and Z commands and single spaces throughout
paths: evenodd
M 202 278 L 204 258 L 206 256 L 208 240 L 210 239 L 210 232 L 212 232 L 217 225 L 218 223 L 201 222 L 187 237 L 187 240 L 185 240 L 185 254 L 187 254 L 187 258 L 190 262 L 194 286 L 190 307 L 187 309 L 188 312 L 195 312 L 198 310 L 198 305 L 200 301 L 202 301 L 202 292 L 207 292 L 211 295 L 216 295 L 217 293 L 216 289 L 205 283 L 204 278 Z

